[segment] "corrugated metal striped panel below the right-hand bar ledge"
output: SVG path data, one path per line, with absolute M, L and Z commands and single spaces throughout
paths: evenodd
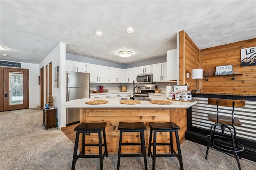
M 192 127 L 210 131 L 214 122 L 208 121 L 207 113 L 216 114 L 216 106 L 208 105 L 208 98 L 193 97 L 193 100 L 197 104 L 192 106 Z M 232 116 L 232 108 L 219 106 L 219 114 Z M 235 117 L 242 123 L 242 126 L 235 126 L 237 137 L 256 141 L 256 101 L 246 101 L 244 107 L 235 107 Z

